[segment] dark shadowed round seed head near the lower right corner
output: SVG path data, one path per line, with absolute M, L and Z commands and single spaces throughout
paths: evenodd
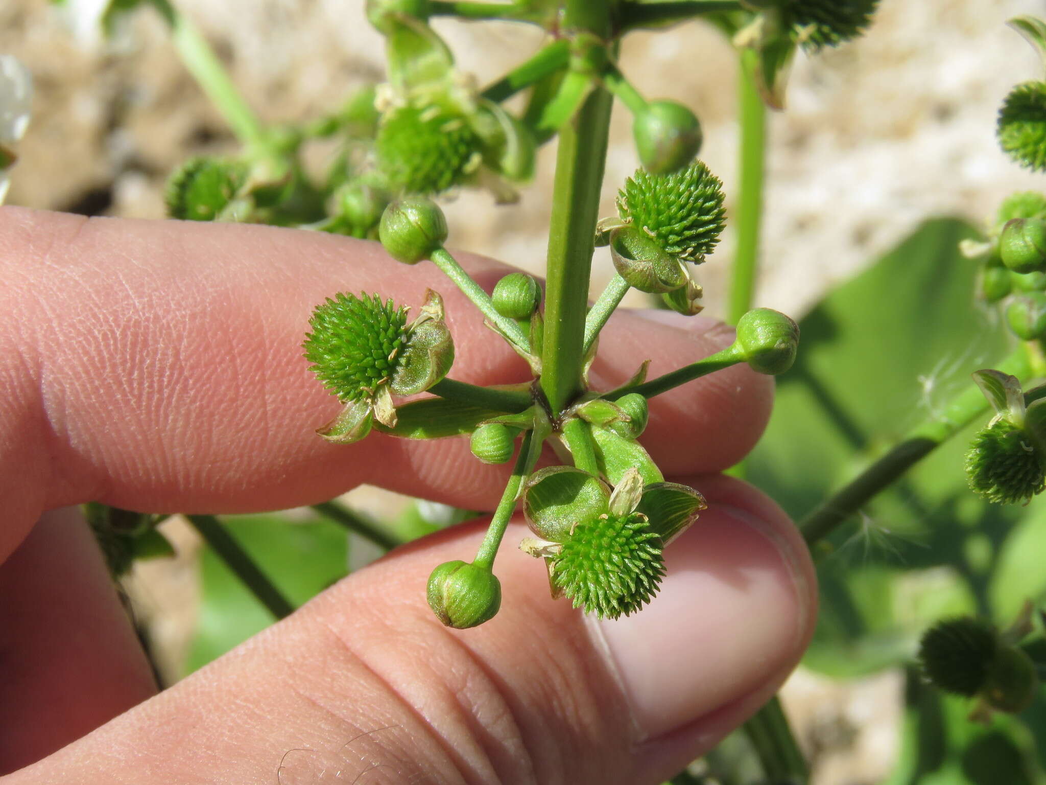
M 972 697 L 987 683 L 997 640 L 995 627 L 979 619 L 938 622 L 919 644 L 923 672 L 945 692 Z

